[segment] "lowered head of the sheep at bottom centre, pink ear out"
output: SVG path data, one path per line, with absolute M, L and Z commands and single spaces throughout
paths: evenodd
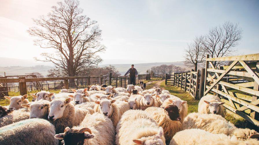
M 139 145 L 164 145 L 162 141 L 164 131 L 162 127 L 159 127 L 158 133 L 154 136 L 149 136 L 149 137 L 142 137 L 140 139 L 134 139 L 132 140 L 135 144 Z

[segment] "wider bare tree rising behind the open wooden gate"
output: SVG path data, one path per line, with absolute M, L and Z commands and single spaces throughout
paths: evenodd
M 241 39 L 242 29 L 239 25 L 232 22 L 225 22 L 222 26 L 210 28 L 202 44 L 206 53 L 210 54 L 210 57 L 223 57 L 233 55 L 236 52 L 234 47 L 239 45 Z M 214 66 L 220 64 L 222 62 L 213 62 Z

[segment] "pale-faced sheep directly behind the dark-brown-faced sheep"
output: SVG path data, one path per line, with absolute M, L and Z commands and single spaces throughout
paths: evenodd
M 182 123 L 184 121 L 184 118 L 188 114 L 187 101 L 183 101 L 183 100 L 176 99 L 176 98 L 169 98 L 169 99 L 167 99 L 163 102 L 161 107 L 166 107 L 166 106 L 171 105 L 171 104 L 174 104 L 178 107 L 179 113 L 180 113 L 181 118 L 182 118 L 182 120 L 181 120 L 181 123 Z

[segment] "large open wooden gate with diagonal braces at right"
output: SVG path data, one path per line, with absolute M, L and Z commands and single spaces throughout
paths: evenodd
M 231 64 L 216 68 L 215 61 L 231 61 Z M 259 126 L 258 73 L 259 54 L 219 58 L 207 55 L 204 95 L 216 94 L 225 102 L 227 112 Z

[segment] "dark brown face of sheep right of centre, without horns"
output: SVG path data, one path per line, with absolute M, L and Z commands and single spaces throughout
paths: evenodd
M 171 120 L 181 121 L 181 116 L 179 114 L 179 110 L 176 105 L 172 104 L 162 108 L 164 108 L 164 112 L 168 115 L 168 117 Z

